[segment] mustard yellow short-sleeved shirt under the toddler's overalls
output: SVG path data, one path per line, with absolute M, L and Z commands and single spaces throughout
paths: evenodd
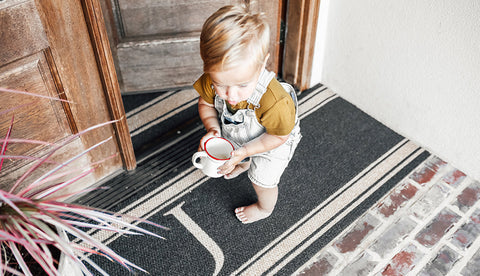
M 207 103 L 214 104 L 215 91 L 212 89 L 212 80 L 209 74 L 203 74 L 193 84 L 193 87 Z M 248 108 L 247 101 L 242 101 L 234 106 L 230 106 L 228 102 L 226 104 L 233 112 Z M 272 79 L 259 104 L 260 107 L 255 110 L 255 115 L 268 134 L 278 136 L 290 134 L 295 126 L 295 104 L 280 82 Z

